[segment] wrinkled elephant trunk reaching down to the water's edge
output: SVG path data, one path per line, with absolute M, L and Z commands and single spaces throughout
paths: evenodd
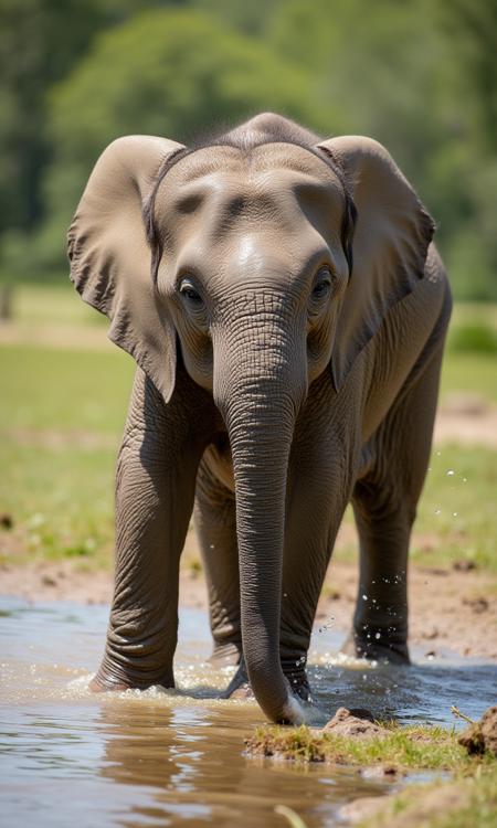
M 242 357 L 220 371 L 214 393 L 233 458 L 248 680 L 269 720 L 300 723 L 304 710 L 281 666 L 279 623 L 288 457 L 296 414 L 307 392 L 307 373 L 305 359 L 296 359 L 288 343 L 279 337 L 269 341 L 273 344 L 266 338 L 252 342 Z M 302 368 L 298 376 L 297 365 Z

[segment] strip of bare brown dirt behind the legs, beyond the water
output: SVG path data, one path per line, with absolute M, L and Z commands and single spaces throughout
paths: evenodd
M 350 531 L 350 530 L 349 530 Z M 193 532 L 186 560 L 198 560 Z M 331 562 L 319 602 L 317 622 L 343 631 L 351 625 L 357 592 L 356 564 Z M 0 593 L 29 601 L 106 604 L 112 598 L 110 572 L 78 570 L 70 561 L 3 565 Z M 409 581 L 410 641 L 423 655 L 442 650 L 497 661 L 497 578 L 478 571 L 412 566 Z M 180 601 L 207 607 L 201 572 L 181 572 Z

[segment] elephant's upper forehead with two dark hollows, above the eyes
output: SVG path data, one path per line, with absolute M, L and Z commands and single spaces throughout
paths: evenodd
M 156 199 L 157 223 L 171 241 L 190 236 L 199 224 L 213 240 L 247 222 L 278 233 L 298 232 L 309 220 L 329 227 L 330 213 L 338 227 L 342 210 L 342 189 L 327 163 L 279 144 L 198 150 L 167 173 Z

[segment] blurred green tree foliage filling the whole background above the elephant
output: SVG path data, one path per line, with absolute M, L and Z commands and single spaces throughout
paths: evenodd
M 488 0 L 0 0 L 0 269 L 64 267 L 98 153 L 262 109 L 382 141 L 456 294 L 497 299 L 497 6 Z

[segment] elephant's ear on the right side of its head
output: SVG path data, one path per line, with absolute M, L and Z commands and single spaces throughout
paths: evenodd
M 342 168 L 357 210 L 352 274 L 331 359 L 334 383 L 339 390 L 390 308 L 423 278 L 434 223 L 378 141 L 343 136 L 318 147 Z

